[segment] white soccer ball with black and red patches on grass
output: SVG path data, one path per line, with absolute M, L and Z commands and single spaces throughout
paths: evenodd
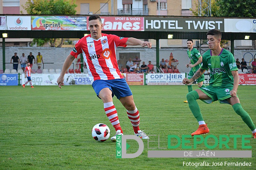
M 98 142 L 104 142 L 109 138 L 110 130 L 107 125 L 103 123 L 96 124 L 92 128 L 92 137 Z

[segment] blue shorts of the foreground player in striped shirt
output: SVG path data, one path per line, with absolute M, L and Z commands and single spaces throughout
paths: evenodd
M 113 80 L 95 80 L 92 83 L 92 87 L 98 97 L 100 91 L 104 88 L 109 88 L 112 91 L 112 97 L 115 95 L 118 100 L 121 97 L 132 96 L 132 91 L 123 78 Z

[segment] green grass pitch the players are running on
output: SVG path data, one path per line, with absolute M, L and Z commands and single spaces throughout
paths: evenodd
M 190 112 L 186 100 L 187 86 L 130 86 L 140 111 L 140 129 L 148 135 L 160 135 L 160 147 L 167 147 L 168 135 L 190 135 L 198 123 Z M 194 89 L 197 86 L 193 86 Z M 90 85 L 63 86 L 0 86 L 0 169 L 195 169 L 183 166 L 185 162 L 252 162 L 252 166 L 218 166 L 215 169 L 255 169 L 256 140 L 252 145 L 252 158 L 148 158 L 148 144 L 134 159 L 116 159 L 116 144 L 110 139 L 103 143 L 92 138 L 92 127 L 105 123 L 110 137 L 115 134 L 103 109 L 103 103 Z M 243 108 L 256 123 L 255 86 L 239 86 L 238 96 Z M 125 108 L 113 98 L 125 135 L 133 129 Z M 251 130 L 236 115 L 230 105 L 215 101 L 205 104 L 198 100 L 210 133 L 219 135 L 251 135 Z M 209 134 L 204 135 L 207 136 Z M 151 137 L 152 140 L 157 140 Z M 192 139 L 191 139 L 192 141 Z M 137 151 L 130 141 L 128 153 Z M 241 140 L 237 149 L 243 150 Z M 158 147 L 152 143 L 149 147 Z M 207 150 L 199 145 L 194 150 Z M 163 150 L 163 149 L 150 149 Z M 169 149 L 170 150 L 170 149 Z M 184 150 L 181 146 L 175 150 Z M 247 149 L 248 150 L 248 149 Z M 197 167 L 212 169 L 213 167 Z

